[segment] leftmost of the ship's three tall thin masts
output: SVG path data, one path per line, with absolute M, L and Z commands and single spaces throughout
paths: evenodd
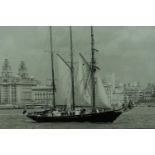
M 49 27 L 50 30 L 50 51 L 51 51 L 51 69 L 52 69 L 52 93 L 53 93 L 53 107 L 55 108 L 55 92 L 56 92 L 56 87 L 55 87 L 55 78 L 54 78 L 54 55 L 53 55 L 53 40 L 52 40 L 52 27 Z

